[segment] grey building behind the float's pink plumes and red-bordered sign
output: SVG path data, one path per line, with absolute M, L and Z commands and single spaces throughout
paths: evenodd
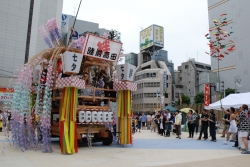
M 71 15 L 62 15 L 62 35 L 64 38 L 64 43 L 68 43 L 70 34 L 71 34 L 71 27 L 73 27 L 75 21 L 75 16 Z M 78 35 L 84 33 L 84 32 L 97 32 L 100 35 L 103 35 L 104 32 L 108 32 L 109 30 L 106 30 L 104 28 L 99 28 L 98 23 L 93 23 L 89 21 L 79 20 L 76 19 L 75 22 L 75 31 L 77 31 Z

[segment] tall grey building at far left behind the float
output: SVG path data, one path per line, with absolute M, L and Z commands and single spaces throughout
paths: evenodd
M 13 71 L 47 48 L 38 28 L 50 18 L 61 26 L 62 0 L 1 0 L 0 87 L 7 87 Z

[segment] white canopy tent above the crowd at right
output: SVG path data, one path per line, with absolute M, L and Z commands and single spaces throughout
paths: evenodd
M 227 97 L 221 99 L 222 107 L 228 109 L 230 107 L 239 108 L 242 104 L 246 104 L 250 107 L 250 92 L 248 93 L 239 93 L 239 94 L 230 94 Z M 214 109 L 220 110 L 221 104 L 220 101 L 205 106 L 205 109 Z

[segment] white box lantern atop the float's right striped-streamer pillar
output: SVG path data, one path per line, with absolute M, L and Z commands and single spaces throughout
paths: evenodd
M 120 64 L 116 66 L 119 81 L 133 81 L 136 67 L 132 64 Z

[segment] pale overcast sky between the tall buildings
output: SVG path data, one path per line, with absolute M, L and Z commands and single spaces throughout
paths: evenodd
M 63 0 L 63 13 L 75 15 L 80 0 Z M 77 19 L 121 32 L 124 53 L 139 53 L 139 34 L 164 27 L 164 48 L 175 69 L 189 58 L 210 64 L 207 0 L 82 0 Z

